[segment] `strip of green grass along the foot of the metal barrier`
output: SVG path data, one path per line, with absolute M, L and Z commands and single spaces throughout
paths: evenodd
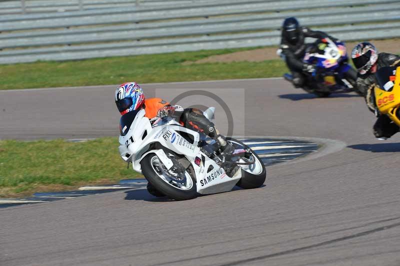
M 286 69 L 280 59 L 183 64 L 240 50 L 248 48 L 0 65 L 0 89 L 271 77 Z

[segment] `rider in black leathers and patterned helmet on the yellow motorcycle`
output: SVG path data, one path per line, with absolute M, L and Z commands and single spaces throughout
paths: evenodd
M 357 87 L 363 93 L 369 110 L 378 117 L 373 125 L 373 134 L 380 139 L 391 137 L 398 132 L 399 127 L 387 115 L 380 115 L 373 88 L 377 85 L 377 69 L 384 66 L 400 66 L 400 57 L 391 53 L 378 53 L 372 43 L 365 41 L 355 45 L 351 58 L 358 71 Z

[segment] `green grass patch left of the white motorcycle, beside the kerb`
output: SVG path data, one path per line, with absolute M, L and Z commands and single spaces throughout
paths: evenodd
M 118 140 L 0 141 L 0 197 L 73 189 L 141 176 L 119 157 Z

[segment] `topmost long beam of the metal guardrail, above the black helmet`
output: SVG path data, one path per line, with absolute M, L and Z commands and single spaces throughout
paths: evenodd
M 27 21 L 34 23 L 38 27 L 54 27 L 63 26 L 57 24 L 58 21 L 73 23 L 68 21 L 68 18 L 83 18 L 81 23 L 73 23 L 73 25 L 89 25 L 89 24 L 107 24 L 115 22 L 143 22 L 153 21 L 154 19 L 175 19 L 175 18 L 192 18 L 192 17 L 208 17 L 216 15 L 244 14 L 244 13 L 260 13 L 260 12 L 281 12 L 288 10 L 299 9 L 315 9 L 353 5 L 367 4 L 387 4 L 398 3 L 398 0 L 292 0 L 292 1 L 277 1 L 277 0 L 219 0 L 217 2 L 201 2 L 194 4 L 182 5 L 157 5 L 157 6 L 131 6 L 131 7 L 115 7 L 98 10 L 85 10 L 62 13 L 40 13 L 26 15 L 2 15 L 1 22 L 7 21 Z M 122 15 L 121 15 L 122 14 Z M 119 19 L 117 19 L 119 17 Z M 107 19 L 108 18 L 108 19 Z M 49 24 L 48 20 L 52 23 Z M 63 19 L 63 20 L 62 20 Z M 33 20 L 33 21 L 29 21 Z M 54 21 L 55 20 L 55 21 Z M 99 20 L 99 21 L 96 21 Z M 40 22 L 44 21 L 41 25 Z M 45 24 L 47 22 L 47 24 Z M 72 24 L 70 24 L 72 25 Z M 70 26 L 69 25 L 69 26 Z M 66 24 L 65 26 L 68 26 Z M 17 28 L 11 28 L 14 30 Z M 24 28 L 19 28 L 24 29 Z M 29 28 L 26 28 L 29 29 Z

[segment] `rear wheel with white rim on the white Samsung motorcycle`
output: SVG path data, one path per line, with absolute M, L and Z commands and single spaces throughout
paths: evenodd
M 240 140 L 234 138 L 227 137 L 226 141 L 230 142 L 235 148 L 250 148 Z M 241 169 L 241 178 L 236 185 L 244 189 L 260 187 L 265 182 L 266 178 L 266 170 L 262 160 L 252 149 L 251 153 L 255 158 L 254 165 L 238 164 Z

